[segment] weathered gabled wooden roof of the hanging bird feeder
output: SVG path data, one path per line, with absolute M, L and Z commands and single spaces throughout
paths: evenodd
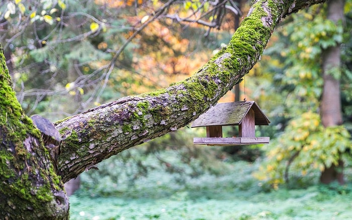
M 269 125 L 268 117 L 254 101 L 217 103 L 200 115 L 191 127 L 239 125 L 249 109 L 254 111 L 255 125 Z

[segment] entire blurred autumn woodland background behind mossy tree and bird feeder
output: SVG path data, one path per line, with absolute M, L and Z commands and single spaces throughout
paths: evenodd
M 250 6 L 3 0 L 0 42 L 26 114 L 55 122 L 193 75 Z M 351 82 L 352 1 L 301 10 L 220 100 L 255 101 L 271 120 L 256 136 L 270 144 L 209 147 L 193 145 L 205 129 L 168 133 L 67 185 L 71 219 L 350 219 Z

